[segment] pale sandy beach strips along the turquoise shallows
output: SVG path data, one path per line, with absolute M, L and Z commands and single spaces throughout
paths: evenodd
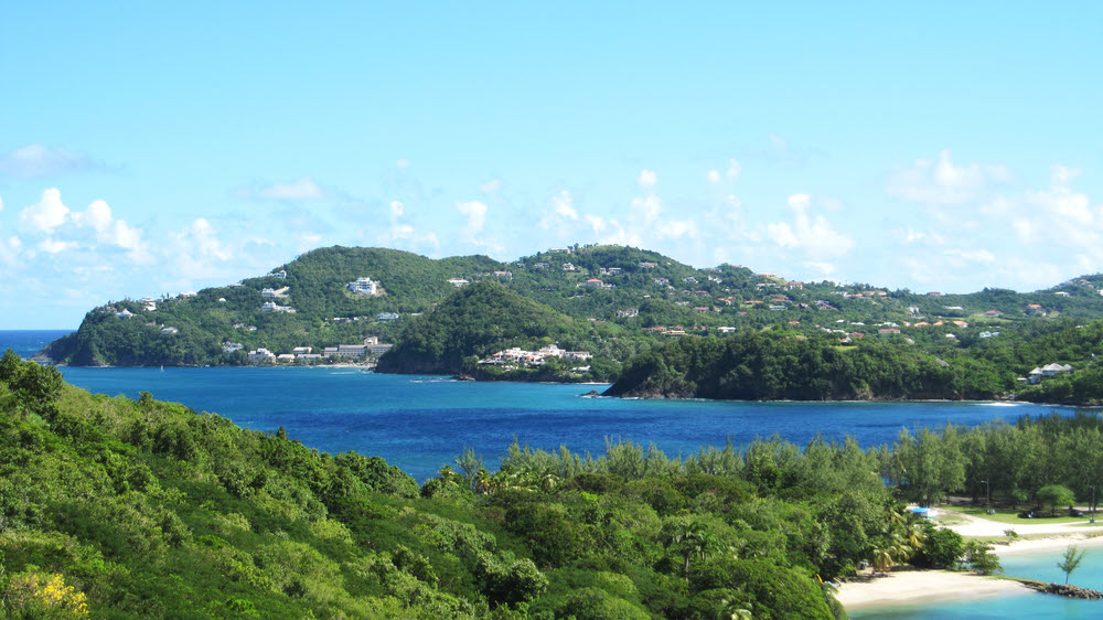
M 994 543 L 993 550 L 1000 557 L 1060 552 L 1070 543 L 1083 548 L 1103 547 L 1103 536 L 1099 535 L 1103 532 L 1103 523 L 1097 526 L 1080 523 L 1026 523 L 1013 527 L 1006 523 L 961 513 L 943 511 L 941 516 L 952 516 L 956 522 L 947 527 L 963 536 L 1003 536 L 1004 531 L 1009 528 L 1014 528 L 1020 536 L 1046 536 L 1018 538 L 1006 544 Z M 1022 584 L 1010 579 L 951 570 L 902 568 L 878 577 L 872 577 L 871 571 L 867 570 L 839 586 L 837 598 L 848 610 L 854 610 L 863 607 L 973 600 L 1029 591 Z

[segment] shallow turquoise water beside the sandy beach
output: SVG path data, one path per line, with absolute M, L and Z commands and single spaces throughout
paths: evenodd
M 998 549 L 997 549 L 998 550 Z M 1064 573 L 1058 567 L 1061 552 L 1021 554 L 1004 556 L 999 563 L 1005 575 L 1026 577 L 1056 584 L 1064 582 Z M 1084 588 L 1103 590 L 1103 547 L 1089 548 L 1084 562 L 1069 579 Z M 996 618 L 1101 618 L 1103 601 L 1078 600 L 1042 595 L 1025 590 L 1022 594 L 984 598 L 981 600 L 920 605 L 908 607 L 888 607 L 882 609 L 866 609 L 850 613 L 856 620 L 874 619 L 996 619 Z

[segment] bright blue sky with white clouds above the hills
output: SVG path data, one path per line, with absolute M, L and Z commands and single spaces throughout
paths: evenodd
M 1103 3 L 0 4 L 0 329 L 315 247 L 1103 270 Z

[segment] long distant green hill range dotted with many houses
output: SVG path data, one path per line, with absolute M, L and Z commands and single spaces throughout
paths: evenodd
M 349 289 L 360 278 L 371 278 L 374 295 Z M 588 380 L 614 378 L 621 364 L 654 344 L 683 334 L 713 336 L 720 328 L 727 333 L 783 325 L 808 336 L 829 331 L 850 340 L 899 329 L 898 340 L 933 350 L 947 336 L 972 346 L 993 334 L 1007 338 L 1046 331 L 1067 320 L 1103 318 L 1101 276 L 1035 292 L 985 289 L 949 295 L 801 282 L 733 265 L 698 269 L 623 246 L 576 245 L 512 263 L 330 247 L 303 254 L 270 274 L 194 295 L 104 303 L 87 313 L 76 333 L 49 345 L 42 356 L 74 365 L 226 365 L 249 363 L 246 353 L 258 348 L 275 354 L 303 346 L 319 352 L 360 344 L 368 336 L 401 345 L 404 333 L 430 330 L 424 323 L 407 330 L 422 321 L 420 316 L 431 314 L 457 289 L 489 281 L 540 304 L 537 313 L 572 319 L 575 329 L 564 338 L 575 343 L 569 346 L 595 353 Z M 494 330 L 484 328 L 483 335 L 493 339 Z M 500 344 L 483 338 L 478 348 L 449 354 L 470 357 L 511 341 L 504 334 Z M 420 360 L 417 365 L 424 366 L 425 357 Z M 456 367 L 454 359 L 429 365 L 449 372 Z M 481 376 L 549 378 L 518 371 Z

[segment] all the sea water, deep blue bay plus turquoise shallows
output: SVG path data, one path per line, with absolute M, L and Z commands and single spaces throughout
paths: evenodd
M 0 331 L 0 350 L 31 355 L 65 331 Z M 863 446 L 891 442 L 903 427 L 947 420 L 978 425 L 1067 408 L 990 403 L 709 403 L 582 398 L 603 386 L 453 382 L 432 376 L 376 375 L 354 368 L 62 368 L 95 393 L 137 398 L 149 391 L 258 430 L 283 426 L 326 452 L 378 455 L 418 481 L 465 447 L 494 468 L 516 436 L 523 443 L 603 451 L 606 437 L 654 441 L 668 455 L 689 453 L 730 437 L 743 443 L 779 434 L 799 445 L 817 434 L 849 435 Z M 1063 580 L 1057 554 L 1004 560 L 1009 575 Z M 1103 589 L 1103 548 L 1090 550 L 1073 582 Z M 983 603 L 867 610 L 855 618 L 1088 618 L 1103 602 L 1025 594 Z

